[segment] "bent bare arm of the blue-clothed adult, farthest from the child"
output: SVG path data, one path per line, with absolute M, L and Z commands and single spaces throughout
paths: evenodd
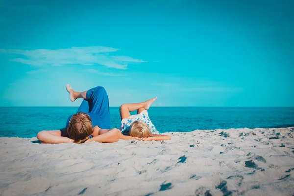
M 65 137 L 63 134 L 64 130 L 56 130 L 56 131 L 40 131 L 37 134 L 38 140 L 45 144 L 58 144 L 58 143 L 66 143 L 73 142 L 72 139 Z

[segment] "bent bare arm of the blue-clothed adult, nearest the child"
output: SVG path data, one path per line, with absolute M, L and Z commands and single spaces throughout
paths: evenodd
M 103 131 L 99 132 L 99 135 L 90 138 L 85 143 L 88 142 L 117 142 L 121 137 L 121 131 L 119 129 L 113 128 L 106 131 L 106 129 L 101 129 Z M 102 133 L 103 132 L 103 133 Z

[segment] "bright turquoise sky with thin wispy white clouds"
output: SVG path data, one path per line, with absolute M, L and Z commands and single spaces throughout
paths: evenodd
M 0 0 L 0 106 L 294 107 L 293 0 Z

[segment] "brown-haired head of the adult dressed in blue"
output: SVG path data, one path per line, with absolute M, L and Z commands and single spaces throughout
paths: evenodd
M 86 142 L 93 133 L 93 125 L 88 114 L 79 112 L 70 119 L 67 129 L 69 137 L 74 143 L 80 144 Z

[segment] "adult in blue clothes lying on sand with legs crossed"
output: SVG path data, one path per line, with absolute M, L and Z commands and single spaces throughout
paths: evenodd
M 37 138 L 42 143 L 117 142 L 120 139 L 121 131 L 110 129 L 109 101 L 103 87 L 76 92 L 67 85 L 66 90 L 70 93 L 71 101 L 77 98 L 84 100 L 77 113 L 69 116 L 64 129 L 38 133 Z

